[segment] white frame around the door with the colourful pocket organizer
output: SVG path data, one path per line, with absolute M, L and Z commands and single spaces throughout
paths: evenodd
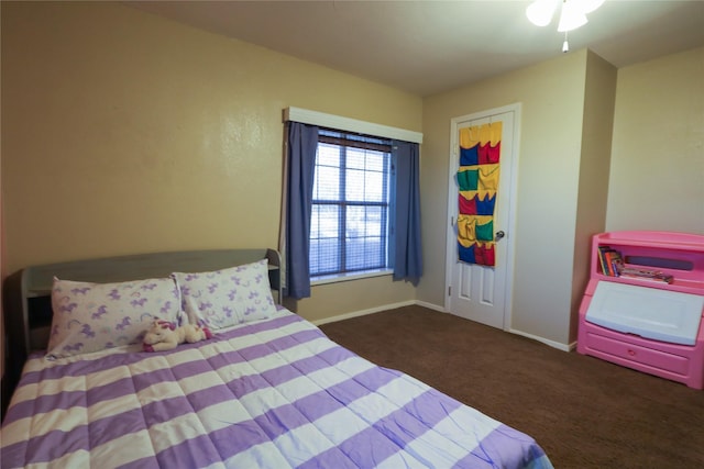
M 458 171 L 458 165 L 460 161 L 459 145 L 452 147 L 452 143 L 458 142 L 459 138 L 454 135 L 458 130 L 458 124 L 464 121 L 473 121 L 480 119 L 490 119 L 494 115 L 504 114 L 507 112 L 514 113 L 513 129 L 504 129 L 504 132 L 512 133 L 512 171 L 509 181 L 509 201 L 508 201 L 508 226 L 506 236 L 502 239 L 507 244 L 506 246 L 506 281 L 504 283 L 504 331 L 510 331 L 512 314 L 513 314 L 513 288 L 514 288 L 514 253 L 516 247 L 516 203 L 517 203 L 517 190 L 518 190 L 518 156 L 520 154 L 520 111 L 521 103 L 516 102 L 513 104 L 504 105 L 501 108 L 488 109 L 485 111 L 474 112 L 472 114 L 460 115 L 450 120 L 450 165 L 448 172 L 448 236 L 446 239 L 446 276 L 444 276 L 444 311 L 450 311 L 450 287 L 452 286 L 453 269 L 457 264 L 457 212 L 458 212 L 458 190 L 454 177 Z M 505 230 L 506 231 L 506 230 Z

